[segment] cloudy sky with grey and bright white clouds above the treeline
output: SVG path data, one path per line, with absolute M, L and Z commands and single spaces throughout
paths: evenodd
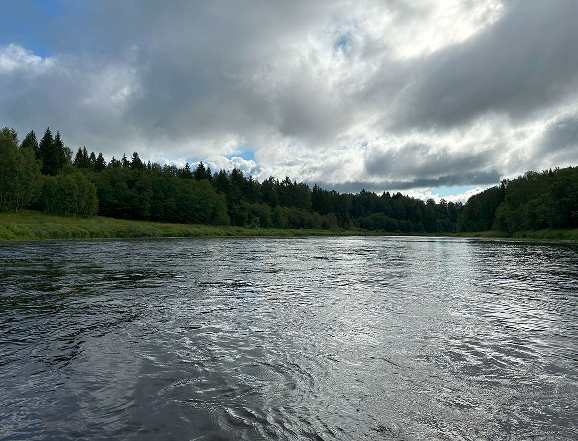
M 0 0 L 0 126 L 462 201 L 578 165 L 578 2 Z

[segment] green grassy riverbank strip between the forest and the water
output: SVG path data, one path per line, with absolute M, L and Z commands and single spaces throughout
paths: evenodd
M 218 227 L 215 225 L 161 224 L 114 219 L 111 217 L 54 216 L 32 210 L 0 213 L 0 240 L 88 239 L 88 238 L 176 238 L 211 236 L 376 236 L 403 235 L 362 229 L 276 229 Z M 413 234 L 463 238 L 514 238 L 578 240 L 578 229 L 543 229 L 506 233 L 481 231 L 468 233 Z

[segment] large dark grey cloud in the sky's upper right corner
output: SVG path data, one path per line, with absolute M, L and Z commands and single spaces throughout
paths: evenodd
M 576 17 L 578 2 L 507 2 L 505 14 L 480 35 L 414 66 L 416 87 L 395 119 L 443 127 L 487 112 L 526 118 L 575 94 Z

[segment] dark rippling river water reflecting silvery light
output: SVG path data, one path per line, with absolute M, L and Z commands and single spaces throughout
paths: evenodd
M 578 246 L 0 244 L 2 440 L 578 439 Z

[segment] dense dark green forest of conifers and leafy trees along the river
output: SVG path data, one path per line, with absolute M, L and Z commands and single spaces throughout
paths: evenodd
M 107 163 L 86 147 L 73 152 L 60 132 L 34 131 L 18 142 L 0 131 L 0 209 L 24 207 L 72 216 L 99 214 L 166 223 L 249 228 L 454 232 L 578 226 L 578 168 L 527 172 L 488 188 L 468 203 L 427 202 L 396 193 L 339 194 L 288 176 L 262 182 L 239 169 L 213 172 L 146 164 L 135 151 Z

